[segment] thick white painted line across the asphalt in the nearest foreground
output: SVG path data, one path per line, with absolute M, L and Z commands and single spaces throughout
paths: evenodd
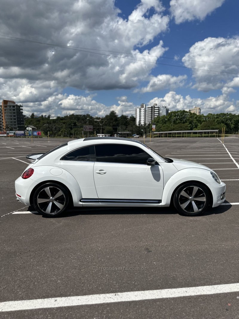
M 239 291 L 239 283 L 228 285 L 199 286 L 176 289 L 131 291 L 126 293 L 104 293 L 97 295 L 57 297 L 33 300 L 0 302 L 0 311 L 17 311 L 38 308 L 58 308 L 69 306 L 95 305 L 122 301 L 154 300 L 215 293 L 232 293 Z

